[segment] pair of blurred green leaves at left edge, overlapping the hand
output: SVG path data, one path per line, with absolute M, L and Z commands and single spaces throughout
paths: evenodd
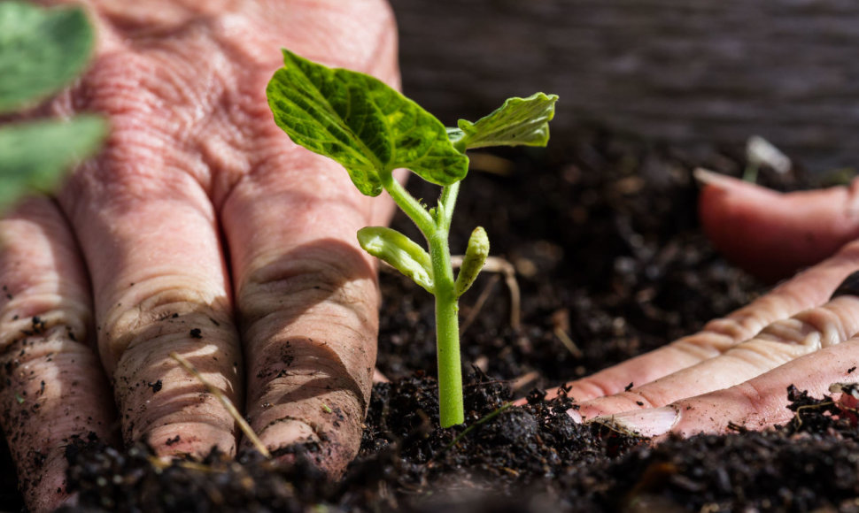
M 83 72 L 95 47 L 80 7 L 42 9 L 0 1 L 0 115 L 31 108 Z M 96 116 L 37 119 L 0 127 L 0 209 L 36 188 L 50 190 L 101 146 Z

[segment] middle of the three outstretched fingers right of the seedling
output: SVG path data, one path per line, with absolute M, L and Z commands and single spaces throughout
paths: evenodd
M 592 418 L 658 408 L 685 397 L 731 387 L 797 357 L 847 341 L 855 333 L 859 333 L 859 298 L 844 295 L 777 321 L 721 356 L 630 391 L 584 402 L 577 413 Z

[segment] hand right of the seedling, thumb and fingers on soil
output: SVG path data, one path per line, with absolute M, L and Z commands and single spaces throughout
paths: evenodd
M 729 423 L 761 429 L 791 417 L 791 384 L 819 397 L 832 383 L 859 381 L 859 297 L 830 299 L 859 271 L 859 181 L 778 194 L 702 179 L 701 222 L 726 256 L 765 279 L 822 262 L 699 333 L 573 381 L 574 418 L 603 417 L 657 440 L 724 432 Z

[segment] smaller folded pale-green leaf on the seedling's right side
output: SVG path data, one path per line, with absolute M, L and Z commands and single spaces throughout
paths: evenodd
M 554 118 L 557 95 L 537 93 L 527 98 L 508 98 L 489 116 L 475 123 L 460 119 L 459 129 L 448 135 L 460 150 L 487 146 L 546 146 L 549 121 Z

